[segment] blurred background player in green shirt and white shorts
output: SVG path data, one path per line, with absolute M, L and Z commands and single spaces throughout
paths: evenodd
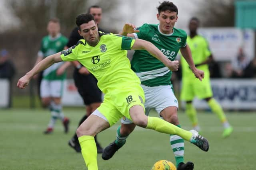
M 48 22 L 47 31 L 49 35 L 43 37 L 41 49 L 38 52 L 36 64 L 45 57 L 62 51 L 68 42 L 68 39 L 60 33 L 60 21 L 53 18 Z M 69 119 L 62 112 L 61 97 L 63 91 L 66 72 L 60 70 L 64 62 L 56 63 L 44 70 L 40 85 L 41 101 L 44 107 L 49 107 L 51 118 L 45 134 L 52 133 L 57 119 L 62 121 L 64 132 L 68 132 Z M 36 78 L 36 77 L 34 77 Z

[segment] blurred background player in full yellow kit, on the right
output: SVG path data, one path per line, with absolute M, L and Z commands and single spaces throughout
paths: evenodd
M 186 102 L 186 114 L 196 131 L 200 132 L 200 127 L 198 125 L 196 109 L 193 106 L 192 101 L 197 96 L 200 99 L 204 99 L 211 110 L 218 115 L 218 118 L 224 127 L 222 136 L 228 137 L 232 133 L 233 128 L 228 123 L 222 107 L 212 96 L 208 63 L 213 60 L 213 57 L 206 39 L 197 33 L 198 26 L 198 18 L 191 18 L 188 25 L 190 35 L 188 36 L 187 43 L 191 49 L 192 58 L 196 67 L 200 70 L 204 70 L 204 79 L 202 82 L 198 81 L 198 79 L 194 77 L 190 66 L 186 63 L 184 57 L 182 57 L 182 89 L 180 98 Z

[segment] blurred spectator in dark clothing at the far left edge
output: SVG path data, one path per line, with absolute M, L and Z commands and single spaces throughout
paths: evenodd
M 0 52 L 0 78 L 8 79 L 10 85 L 12 84 L 12 78 L 15 74 L 15 66 L 9 59 L 9 53 L 6 49 Z M 9 88 L 9 102 L 8 108 L 12 106 L 12 86 Z

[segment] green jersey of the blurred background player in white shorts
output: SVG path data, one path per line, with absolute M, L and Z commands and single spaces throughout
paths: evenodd
M 41 41 L 41 48 L 38 52 L 38 56 L 40 57 L 47 57 L 49 55 L 53 55 L 62 51 L 65 45 L 68 43 L 68 39 L 61 34 L 58 34 L 56 38 L 52 38 L 50 35 L 43 37 Z M 66 78 L 66 72 L 61 75 L 57 75 L 57 69 L 63 64 L 64 62 L 55 63 L 52 66 L 48 67 L 43 72 L 43 79 L 46 80 L 64 80 Z

